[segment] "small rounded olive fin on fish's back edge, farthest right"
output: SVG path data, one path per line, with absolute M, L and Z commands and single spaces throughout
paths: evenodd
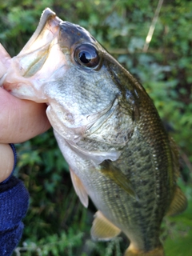
M 187 200 L 185 194 L 183 194 L 182 190 L 179 186 L 175 186 L 174 190 L 174 198 L 170 203 L 170 208 L 167 211 L 167 216 L 173 216 L 175 214 L 180 214 L 182 211 L 186 210 Z

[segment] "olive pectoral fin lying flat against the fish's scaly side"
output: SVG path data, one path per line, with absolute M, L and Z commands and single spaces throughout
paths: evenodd
M 101 169 L 100 171 L 102 174 L 105 174 L 107 178 L 110 178 L 114 183 L 116 183 L 118 186 L 122 188 L 122 190 L 125 190 L 132 198 L 135 198 L 138 200 L 137 194 L 134 192 L 134 188 L 128 178 L 126 178 L 126 175 L 122 173 L 121 170 L 119 170 L 117 167 L 113 165 L 110 161 L 104 161 L 100 165 Z

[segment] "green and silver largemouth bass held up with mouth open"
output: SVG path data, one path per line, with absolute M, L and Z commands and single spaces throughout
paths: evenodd
M 125 256 L 163 256 L 162 219 L 186 209 L 177 185 L 178 149 L 144 87 L 84 28 L 43 11 L 9 60 L 1 86 L 45 102 L 46 114 L 82 205 L 98 211 L 96 241 L 121 232 Z

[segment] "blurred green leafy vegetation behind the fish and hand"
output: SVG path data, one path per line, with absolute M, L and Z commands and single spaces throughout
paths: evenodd
M 167 256 L 192 254 L 192 2 L 164 0 L 148 50 L 143 51 L 158 0 L 9 0 L 0 1 L 0 42 L 18 54 L 42 10 L 84 26 L 146 88 L 180 151 L 179 184 L 189 200 L 185 213 L 166 218 L 162 240 Z M 52 130 L 17 145 L 17 175 L 30 191 L 22 241 L 14 255 L 121 256 L 128 241 L 93 242 L 96 209 L 78 201 L 68 166 Z

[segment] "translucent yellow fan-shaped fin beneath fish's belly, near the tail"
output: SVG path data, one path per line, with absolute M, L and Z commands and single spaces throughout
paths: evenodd
M 94 240 L 107 241 L 115 238 L 121 230 L 102 214 L 100 210 L 94 215 L 93 226 L 91 227 L 90 234 Z

